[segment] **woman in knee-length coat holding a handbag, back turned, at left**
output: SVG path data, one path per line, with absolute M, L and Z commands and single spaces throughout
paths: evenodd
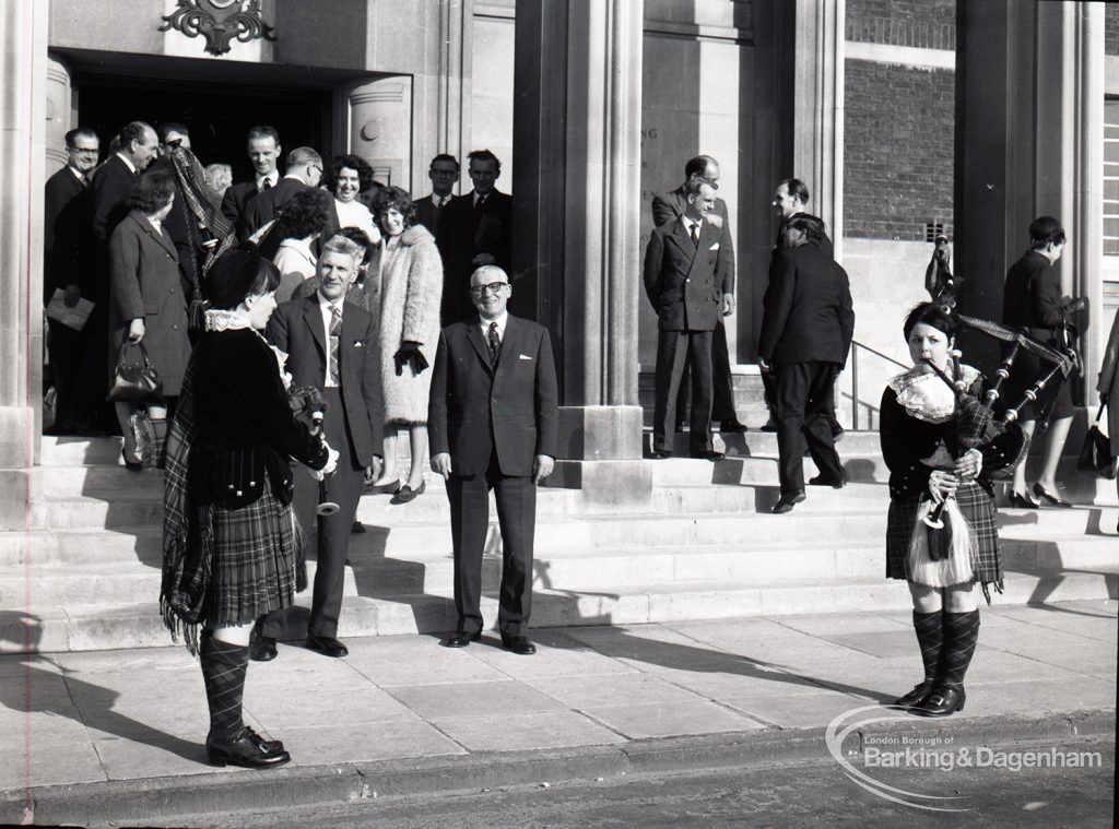
M 110 251 L 110 376 L 125 341 L 143 343 L 163 384 L 163 401 L 148 404 L 148 417 L 137 420 L 135 403 L 117 403 L 124 445 L 121 455 L 129 469 L 140 469 L 137 432 L 151 445 L 143 460 L 161 465 L 167 441 L 167 401 L 179 394 L 190 357 L 187 337 L 187 298 L 179 273 L 179 255 L 162 222 L 175 201 L 175 177 L 164 169 L 144 172 L 129 198 L 132 208 L 113 230 Z M 147 424 L 150 423 L 150 434 Z

